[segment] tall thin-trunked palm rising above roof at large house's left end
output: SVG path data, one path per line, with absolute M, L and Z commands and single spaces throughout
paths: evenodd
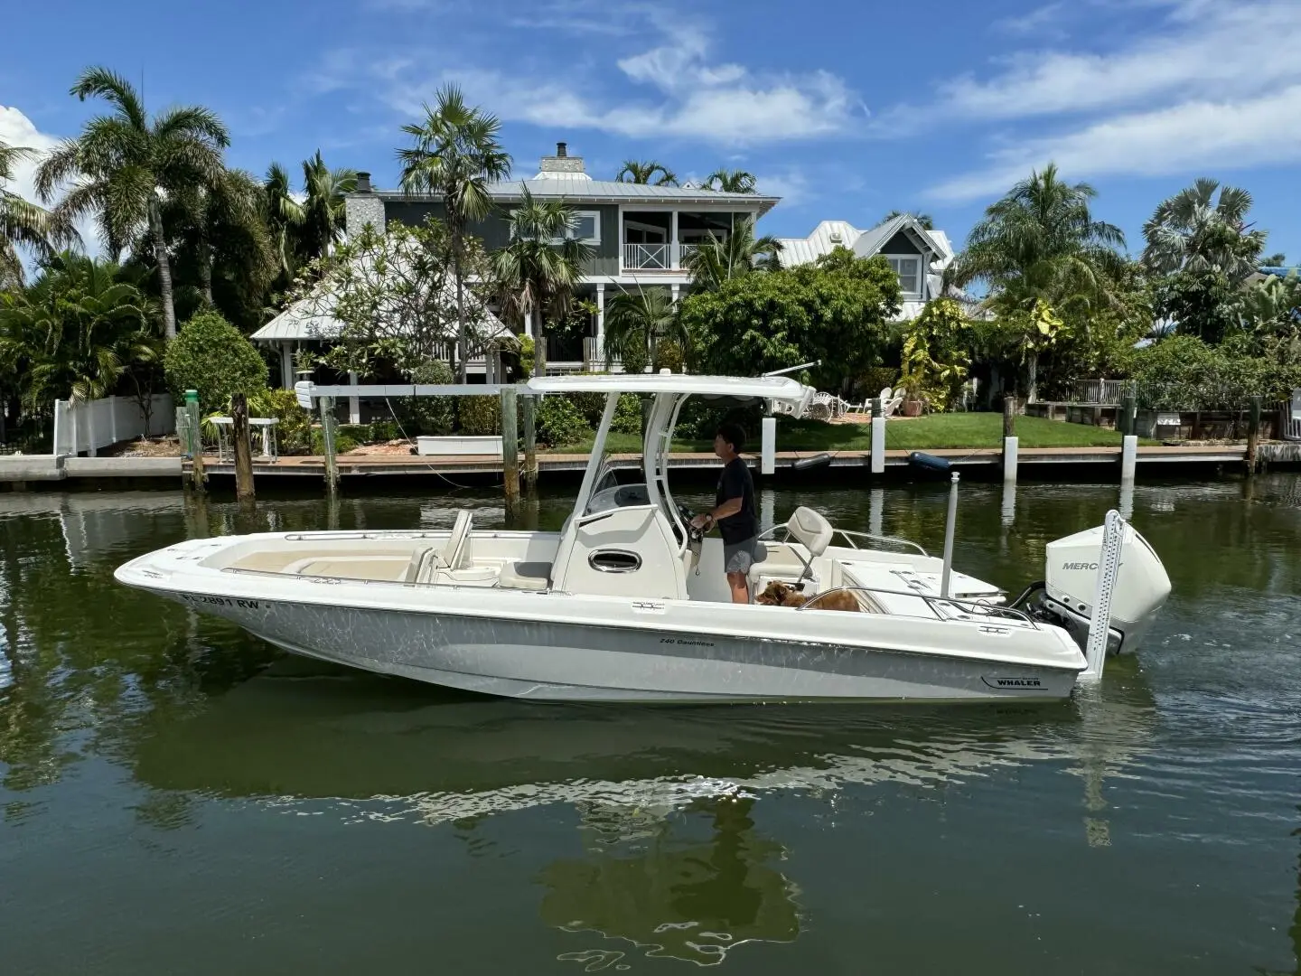
M 415 139 L 410 148 L 398 150 L 402 189 L 442 198 L 444 220 L 451 237 L 451 271 L 457 282 L 458 379 L 464 383 L 466 228 L 471 221 L 483 220 L 492 210 L 488 185 L 510 176 L 510 155 L 497 141 L 501 131 L 497 117 L 467 105 L 461 88 L 454 85 L 440 88 L 435 107 L 427 104 L 424 113 L 422 125 L 402 126 L 402 131 Z

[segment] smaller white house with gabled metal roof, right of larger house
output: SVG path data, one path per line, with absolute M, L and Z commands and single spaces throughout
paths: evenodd
M 926 302 L 942 294 L 943 271 L 954 260 L 954 246 L 945 232 L 926 230 L 911 213 L 900 213 L 869 230 L 859 230 L 843 220 L 824 220 L 808 237 L 779 239 L 783 268 L 816 262 L 837 247 L 848 247 L 859 258 L 885 255 L 903 289 L 898 321 L 916 319 Z

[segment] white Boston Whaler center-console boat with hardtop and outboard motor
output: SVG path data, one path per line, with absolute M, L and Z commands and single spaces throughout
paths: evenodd
M 461 511 L 450 532 L 193 539 L 116 576 L 294 653 L 553 701 L 1064 698 L 1081 674 L 1101 674 L 1107 647 L 1132 649 L 1170 592 L 1155 553 L 1114 514 L 1110 563 L 1102 527 L 1051 543 L 1045 584 L 1010 604 L 920 545 L 801 508 L 770 534 L 751 582 L 755 592 L 787 583 L 807 603 L 732 604 L 722 543 L 690 530 L 669 488 L 678 413 L 691 396 L 799 413 L 813 392 L 785 377 L 683 375 L 539 377 L 528 388 L 606 394 L 559 532 L 475 528 Z M 623 393 L 653 398 L 639 484 L 619 484 L 605 453 Z M 310 384 L 299 396 L 312 396 Z M 818 609 L 833 591 L 857 612 Z M 1110 604 L 1110 627 L 1093 625 L 1095 604 Z M 1089 632 L 1092 657 L 1081 649 Z

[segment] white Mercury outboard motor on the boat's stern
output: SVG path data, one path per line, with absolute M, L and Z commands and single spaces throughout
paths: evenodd
M 1111 590 L 1107 653 L 1131 653 L 1147 634 L 1170 596 L 1170 576 L 1147 540 L 1128 522 L 1121 526 L 1120 569 Z M 1047 544 L 1043 586 L 1028 595 L 1039 619 L 1071 632 L 1082 648 L 1089 636 L 1098 590 L 1103 526 Z

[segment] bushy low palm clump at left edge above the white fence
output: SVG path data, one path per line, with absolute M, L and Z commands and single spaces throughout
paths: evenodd
M 20 377 L 31 413 L 107 397 L 154 359 L 155 312 L 117 263 L 62 251 L 29 288 L 0 295 L 0 364 Z

